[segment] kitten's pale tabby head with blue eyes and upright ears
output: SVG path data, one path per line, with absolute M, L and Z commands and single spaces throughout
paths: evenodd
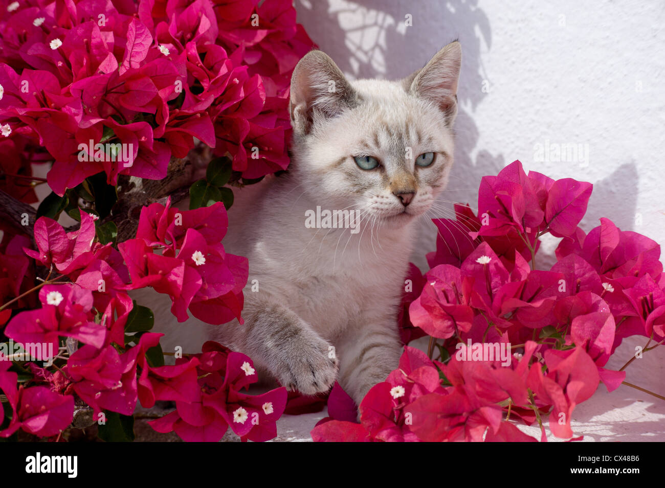
M 426 212 L 453 163 L 461 62 L 452 42 L 403 80 L 350 82 L 324 52 L 305 55 L 291 78 L 292 169 L 313 201 L 390 227 Z

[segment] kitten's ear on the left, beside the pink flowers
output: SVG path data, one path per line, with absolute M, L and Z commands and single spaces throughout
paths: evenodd
M 342 71 L 323 51 L 308 52 L 293 70 L 289 114 L 297 133 L 309 133 L 317 119 L 335 117 L 357 100 Z

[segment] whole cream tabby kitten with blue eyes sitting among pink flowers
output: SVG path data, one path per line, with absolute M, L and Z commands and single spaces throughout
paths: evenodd
M 225 249 L 249 258 L 245 323 L 207 326 L 206 339 L 303 394 L 337 379 L 356 404 L 398 366 L 414 222 L 453 163 L 461 58 L 452 42 L 404 80 L 350 82 L 327 54 L 303 57 L 291 78 L 289 171 L 235 192 L 229 211 Z M 346 223 L 356 227 L 312 228 L 317 207 L 354 210 Z M 176 324 L 166 300 L 152 308 L 162 329 L 194 337 L 196 319 Z

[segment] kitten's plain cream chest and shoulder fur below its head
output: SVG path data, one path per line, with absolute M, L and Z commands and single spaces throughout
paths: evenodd
M 249 259 L 245 295 L 270 295 L 329 339 L 377 309 L 396 312 L 412 246 L 408 226 L 386 232 L 358 209 L 358 232 L 309 228 L 306 212 L 317 203 L 288 178 L 239 193 L 223 244 Z

